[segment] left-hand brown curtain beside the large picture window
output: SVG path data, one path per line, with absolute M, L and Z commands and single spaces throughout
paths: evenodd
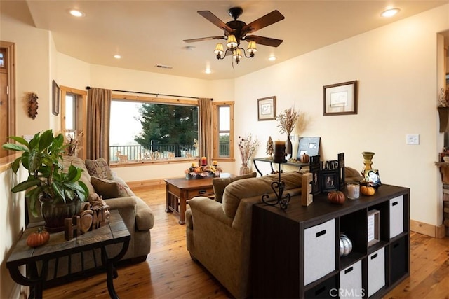
M 109 162 L 109 120 L 112 91 L 102 88 L 88 90 L 86 158 L 105 158 Z

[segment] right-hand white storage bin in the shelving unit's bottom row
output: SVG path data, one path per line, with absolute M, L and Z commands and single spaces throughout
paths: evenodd
M 385 285 L 384 247 L 368 256 L 368 297 Z

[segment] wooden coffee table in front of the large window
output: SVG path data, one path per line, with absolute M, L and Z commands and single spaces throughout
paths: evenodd
M 231 174 L 221 174 L 220 177 L 229 177 Z M 213 198 L 212 178 L 210 179 L 165 179 L 167 189 L 166 212 L 174 212 L 180 217 L 180 224 L 185 224 L 185 210 L 187 202 L 195 196 Z

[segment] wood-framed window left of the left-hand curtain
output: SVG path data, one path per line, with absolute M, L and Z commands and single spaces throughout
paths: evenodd
M 81 134 L 86 129 L 86 90 L 76 90 L 66 86 L 60 86 L 61 90 L 61 129 L 66 136 L 79 141 L 76 153 L 79 158 L 86 157 L 86 134 Z M 80 136 L 81 134 L 81 136 Z

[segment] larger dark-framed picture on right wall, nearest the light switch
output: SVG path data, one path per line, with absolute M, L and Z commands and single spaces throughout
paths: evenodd
M 357 81 L 323 86 L 323 116 L 357 114 Z

